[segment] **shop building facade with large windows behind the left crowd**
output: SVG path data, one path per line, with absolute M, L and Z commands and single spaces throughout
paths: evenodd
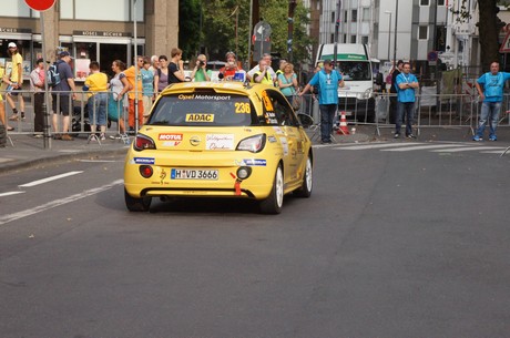
M 7 60 L 9 42 L 17 43 L 26 79 L 43 53 L 54 61 L 58 51 L 68 50 L 80 82 L 90 61 L 111 72 L 113 60 L 133 63 L 135 45 L 141 55 L 170 54 L 178 45 L 178 0 L 57 0 L 44 12 L 24 0 L 7 2 L 0 8 L 0 61 Z

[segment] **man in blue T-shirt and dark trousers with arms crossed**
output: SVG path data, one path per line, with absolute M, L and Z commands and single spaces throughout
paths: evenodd
M 404 116 L 406 116 L 406 137 L 416 139 L 412 134 L 412 120 L 415 113 L 415 90 L 419 88 L 418 79 L 411 72 L 409 62 L 402 65 L 402 72 L 397 75 L 397 121 L 395 124 L 395 139 L 400 137 Z

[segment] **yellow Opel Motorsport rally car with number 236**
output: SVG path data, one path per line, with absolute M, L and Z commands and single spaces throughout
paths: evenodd
M 312 143 L 282 93 L 264 84 L 185 82 L 157 98 L 124 164 L 125 204 L 152 197 L 236 197 L 278 214 L 284 195 L 309 197 Z

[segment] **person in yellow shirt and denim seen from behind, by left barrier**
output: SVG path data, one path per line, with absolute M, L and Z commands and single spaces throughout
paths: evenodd
M 91 123 L 91 141 L 95 141 L 95 130 L 98 125 L 101 130 L 100 140 L 106 140 L 106 103 L 108 103 L 108 76 L 100 72 L 99 63 L 92 61 L 89 65 L 90 74 L 85 79 L 84 91 L 88 91 L 89 119 Z

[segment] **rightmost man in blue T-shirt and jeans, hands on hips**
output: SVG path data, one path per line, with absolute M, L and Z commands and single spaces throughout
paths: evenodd
M 499 71 L 499 62 L 490 64 L 490 72 L 481 75 L 475 85 L 477 86 L 481 104 L 480 120 L 478 121 L 477 134 L 472 141 L 482 141 L 486 131 L 487 122 L 490 121 L 489 140 L 496 141 L 496 127 L 499 122 L 501 112 L 501 102 L 503 101 L 503 88 L 507 80 L 510 79 L 510 73 Z M 483 91 L 481 89 L 483 86 Z

